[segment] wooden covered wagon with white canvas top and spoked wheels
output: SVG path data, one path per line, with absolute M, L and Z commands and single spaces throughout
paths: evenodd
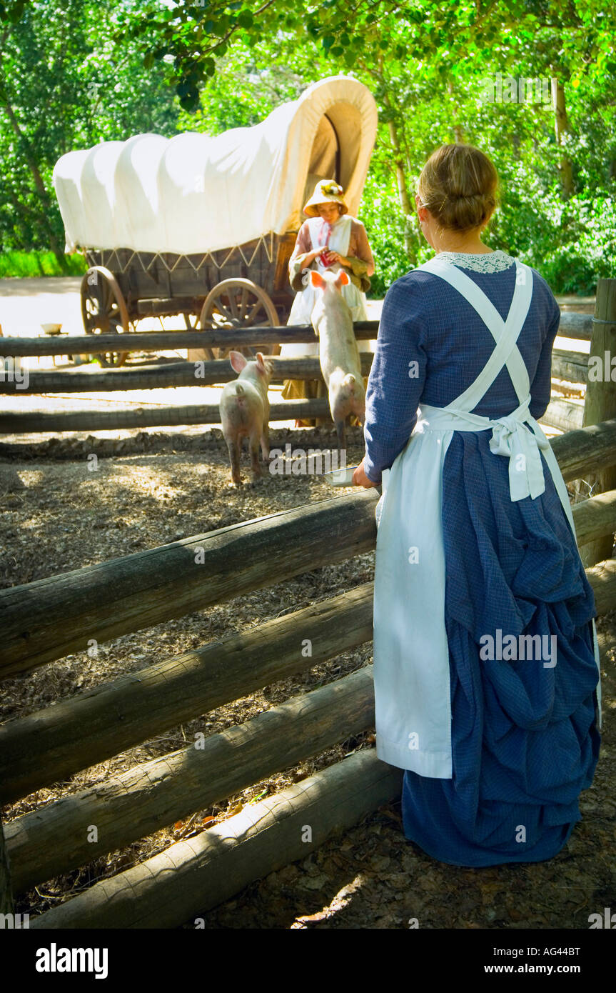
M 201 330 L 286 323 L 303 205 L 332 178 L 357 213 L 376 126 L 370 90 L 337 75 L 254 127 L 139 134 L 63 155 L 54 187 L 65 250 L 82 250 L 89 266 L 86 334 L 173 315 Z M 120 365 L 129 351 L 122 341 L 101 359 Z

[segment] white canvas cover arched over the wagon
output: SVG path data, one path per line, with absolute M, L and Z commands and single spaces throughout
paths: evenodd
M 298 230 L 319 179 L 339 182 L 356 214 L 377 127 L 370 90 L 336 75 L 261 124 L 216 137 L 138 134 L 62 155 L 54 187 L 66 251 L 191 254 Z

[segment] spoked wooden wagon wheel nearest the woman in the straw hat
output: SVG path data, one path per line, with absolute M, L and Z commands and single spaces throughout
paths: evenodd
M 199 326 L 201 331 L 223 328 L 275 328 L 279 317 L 276 307 L 265 290 L 250 279 L 223 279 L 205 297 Z M 243 349 L 212 349 L 216 358 L 226 358 L 229 352 L 241 352 L 254 358 L 257 352 L 280 355 L 280 345 L 261 349 L 247 346 Z

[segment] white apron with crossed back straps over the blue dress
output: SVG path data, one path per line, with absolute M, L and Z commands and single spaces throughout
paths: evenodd
M 573 534 L 573 516 L 554 452 L 529 413 L 530 380 L 517 340 L 533 295 L 533 271 L 516 261 L 507 321 L 456 266 L 435 256 L 419 267 L 446 280 L 474 307 L 496 348 L 468 389 L 446 407 L 422 404 L 407 446 L 383 471 L 376 506 L 374 693 L 377 756 L 421 776 L 452 777 L 449 652 L 444 624 L 442 466 L 454 431 L 492 429 L 490 450 L 509 458 L 512 500 L 546 489 L 540 449 Z M 520 405 L 491 420 L 471 414 L 503 366 Z M 594 655 L 599 653 L 594 621 Z M 597 685 L 600 720 L 600 684 Z

